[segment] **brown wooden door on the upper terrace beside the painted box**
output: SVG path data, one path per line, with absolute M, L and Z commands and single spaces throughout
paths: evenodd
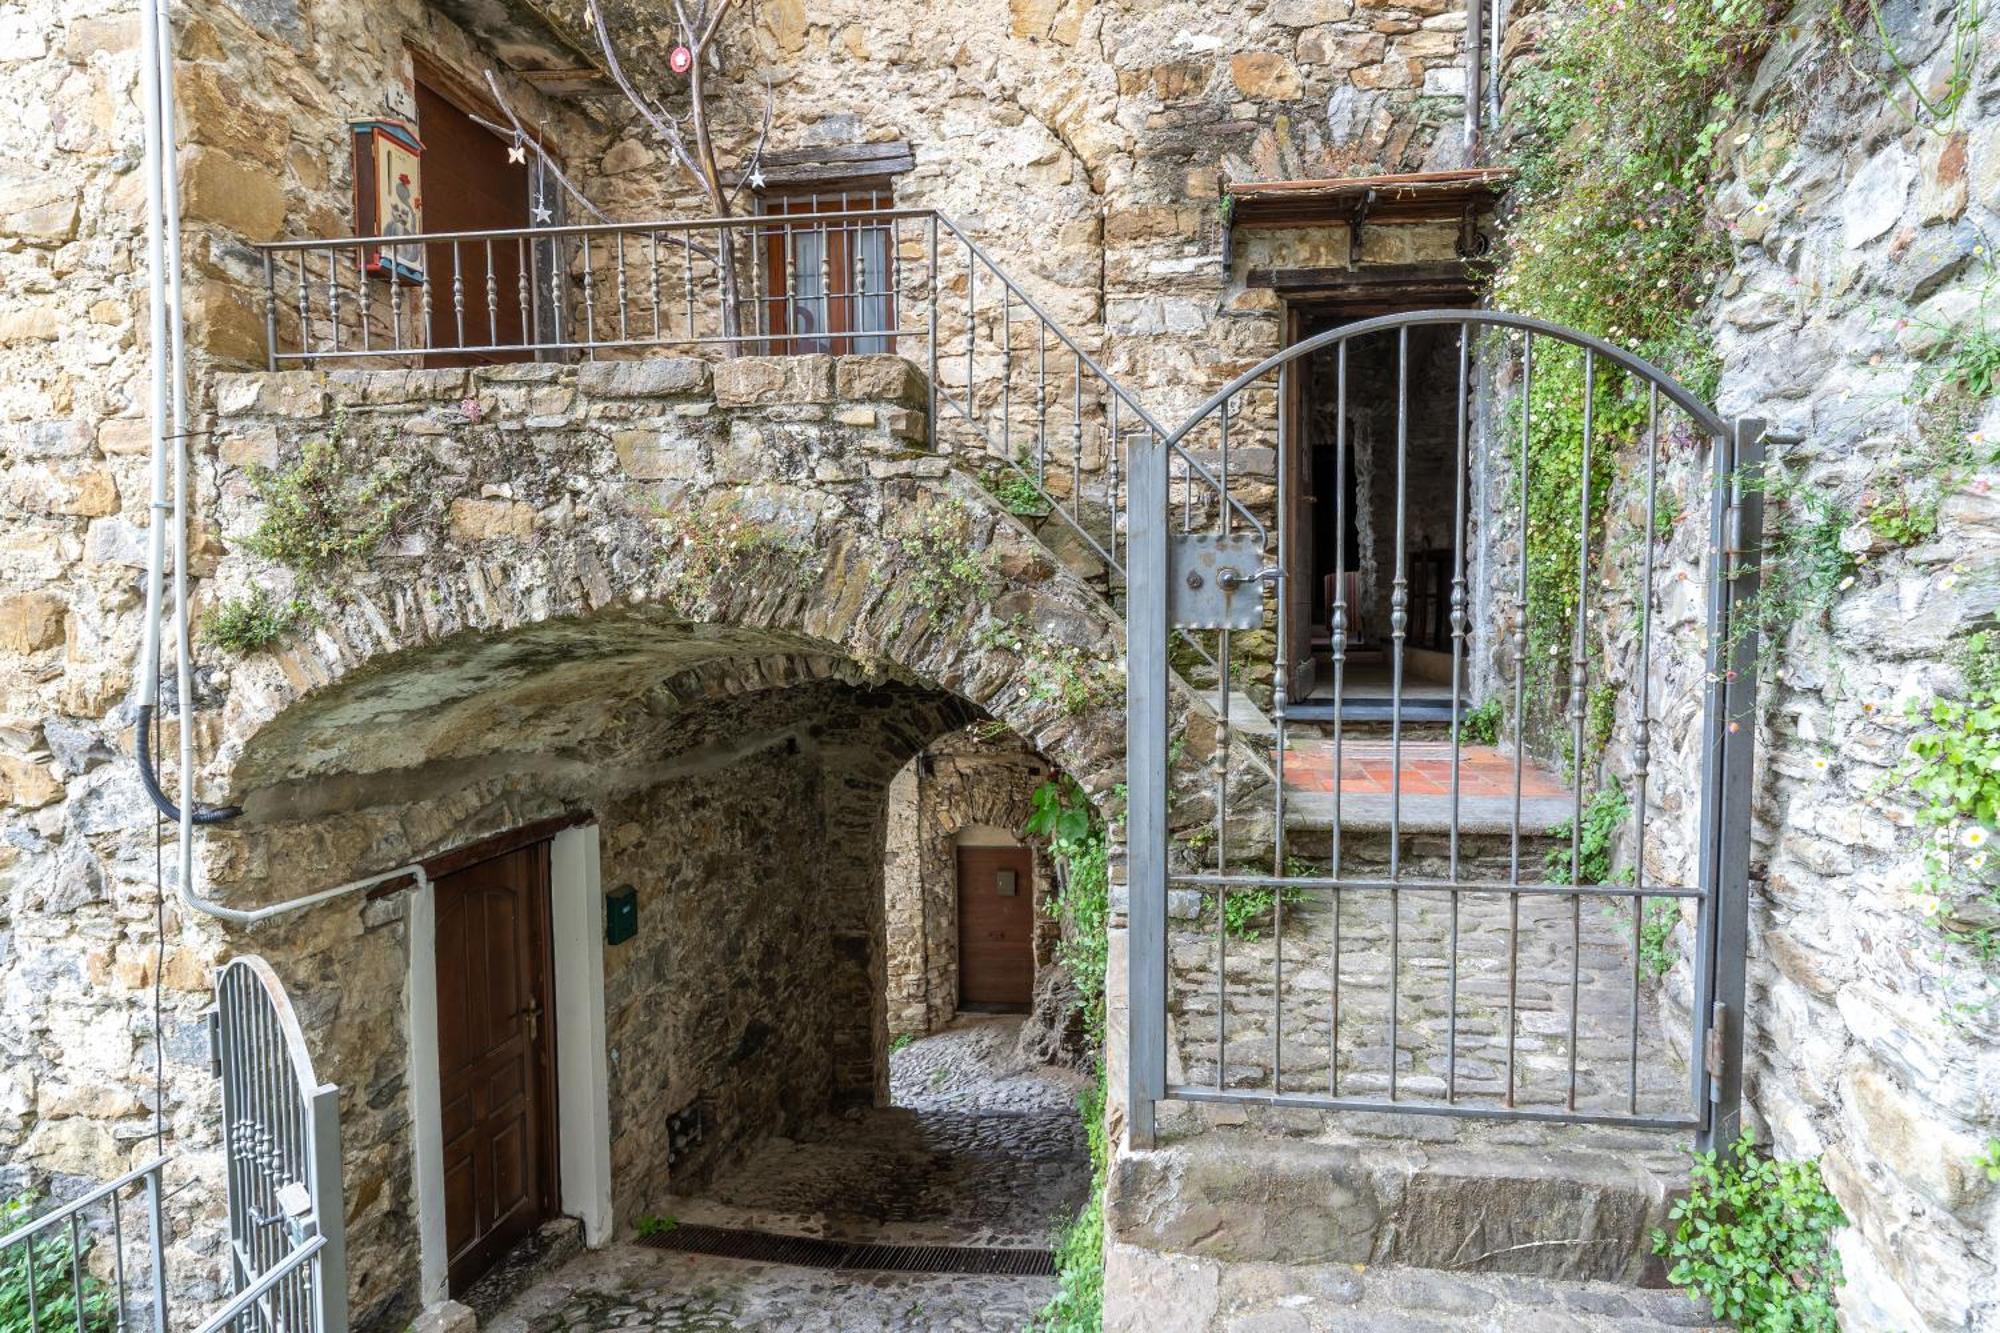
M 528 226 L 528 168 L 508 162 L 504 138 L 476 124 L 422 78 L 416 84 L 416 134 L 424 140 L 426 232 Z M 424 246 L 430 272 L 430 346 L 518 348 L 524 342 L 520 272 L 522 266 L 532 270 L 530 254 L 532 248 L 518 238 Z M 454 276 L 462 288 L 462 312 L 454 302 Z M 478 366 L 532 356 L 528 350 L 432 352 L 424 364 Z

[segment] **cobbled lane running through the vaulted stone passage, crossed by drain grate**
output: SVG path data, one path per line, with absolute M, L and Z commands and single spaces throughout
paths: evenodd
M 968 1015 L 890 1057 L 894 1107 L 770 1139 L 700 1197 L 644 1211 L 682 1223 L 932 1245 L 1048 1245 L 1090 1187 L 1082 1079 L 1014 1055 L 1018 1017 Z M 558 1269 L 494 1333 L 1022 1329 L 1052 1277 L 830 1273 L 614 1245 Z

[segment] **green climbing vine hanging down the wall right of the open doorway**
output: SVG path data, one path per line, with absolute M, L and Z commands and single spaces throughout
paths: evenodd
M 1712 396 L 1716 362 L 1696 312 L 1730 256 L 1708 216 L 1716 140 L 1736 110 L 1730 84 L 1768 46 L 1782 8 L 1712 0 L 1568 4 L 1552 14 L 1546 58 L 1516 88 L 1522 134 L 1494 274 L 1500 308 L 1634 348 Z M 1586 394 L 1582 352 L 1542 346 L 1526 388 L 1528 428 L 1508 432 L 1508 446 L 1510 494 L 1526 468 L 1528 660 L 1544 673 L 1530 691 L 1542 713 L 1526 723 L 1546 743 L 1580 592 L 1578 528 L 1592 550 L 1604 548 L 1618 458 L 1640 438 L 1648 400 L 1604 366 Z

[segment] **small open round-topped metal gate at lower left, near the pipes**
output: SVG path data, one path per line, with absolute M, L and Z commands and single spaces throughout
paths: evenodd
M 208 1327 L 346 1333 L 340 1091 L 312 1073 L 292 1001 L 264 959 L 222 967 L 208 1025 L 236 1291 Z

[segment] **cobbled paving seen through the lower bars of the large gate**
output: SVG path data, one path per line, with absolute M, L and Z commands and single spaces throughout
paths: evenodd
M 1622 1115 L 1636 1097 L 1642 1115 L 1684 1115 L 1688 1089 L 1680 1069 L 1688 1039 L 1668 1035 L 1658 987 L 1644 969 L 1634 975 L 1628 901 L 1520 895 L 1520 951 L 1510 971 L 1510 899 L 1462 893 L 1454 925 L 1450 895 L 1398 895 L 1396 1095 L 1444 1101 L 1450 1079 L 1458 1101 L 1500 1105 L 1512 1033 L 1516 1105 L 1566 1105 L 1574 1067 L 1580 1111 Z M 1206 921 L 1176 923 L 1170 997 L 1188 1081 L 1216 1081 L 1220 953 L 1228 983 L 1220 991 L 1228 1087 L 1272 1087 L 1272 1035 L 1282 1031 L 1286 1091 L 1326 1093 L 1338 1075 L 1340 1095 L 1386 1097 L 1390 911 L 1386 893 L 1346 893 L 1336 927 L 1324 895 L 1286 899 L 1282 1029 L 1270 921 L 1260 923 L 1256 939 L 1228 939 L 1220 951 L 1212 911 Z M 1670 1049 L 1670 1041 L 1682 1049 Z

